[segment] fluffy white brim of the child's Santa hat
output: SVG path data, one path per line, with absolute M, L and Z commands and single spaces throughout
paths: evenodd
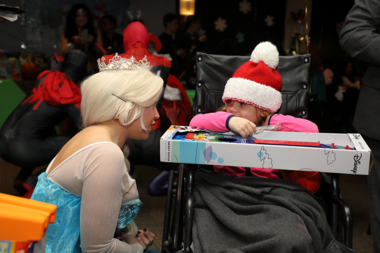
M 222 99 L 226 104 L 227 100 L 235 100 L 272 113 L 276 113 L 283 102 L 280 91 L 244 78 L 230 78 Z

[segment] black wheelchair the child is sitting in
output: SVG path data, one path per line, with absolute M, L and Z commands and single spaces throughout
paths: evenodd
M 193 112 L 195 114 L 215 112 L 223 104 L 222 95 L 228 79 L 242 63 L 248 60 L 249 56 L 212 55 L 198 52 L 194 66 L 196 87 Z M 310 60 L 310 54 L 280 56 L 277 71 L 283 80 L 281 89 L 283 103 L 278 113 L 307 119 Z M 194 172 L 199 168 L 203 168 L 203 165 L 180 164 L 177 170 L 171 170 L 169 173 L 162 253 L 192 252 L 190 245 Z M 322 180 L 320 190 L 324 195 L 325 212 L 333 236 L 338 242 L 352 248 L 352 212 L 341 197 L 339 174 L 325 174 L 322 178 L 326 180 Z

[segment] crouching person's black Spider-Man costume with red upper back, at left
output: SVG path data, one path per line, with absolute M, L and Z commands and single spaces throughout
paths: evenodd
M 62 72 L 42 72 L 32 91 L 2 125 L 0 156 L 21 167 L 14 182 L 21 194 L 34 186 L 36 178 L 30 177 L 33 169 L 47 165 L 71 138 L 57 135 L 54 127 L 69 118 L 74 131 L 79 131 L 81 91 L 76 82 L 81 80 L 86 68 L 86 54 L 70 51 L 62 63 Z

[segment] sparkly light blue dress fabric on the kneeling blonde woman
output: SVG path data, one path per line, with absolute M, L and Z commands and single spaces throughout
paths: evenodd
M 46 253 L 82 252 L 80 248 L 79 218 L 81 198 L 75 196 L 58 185 L 52 183 L 43 172 L 38 177 L 38 183 L 31 197 L 57 206 L 55 222 L 47 227 Z M 140 200 L 122 204 L 116 229 L 129 225 L 137 216 L 141 207 Z

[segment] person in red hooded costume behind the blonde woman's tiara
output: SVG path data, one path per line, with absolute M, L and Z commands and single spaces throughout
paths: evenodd
M 140 21 L 131 22 L 123 32 L 124 53 L 118 54 L 123 58 L 131 58 L 140 61 L 144 56 L 150 66 L 153 66 L 153 72 L 164 80 L 164 89 L 172 66 L 169 59 L 163 56 L 153 55 L 149 49 L 149 33 L 146 27 Z M 115 54 L 104 55 L 105 62 L 112 60 Z M 157 111 L 160 111 L 163 95 L 157 103 Z M 154 131 L 149 134 L 147 140 L 128 140 L 126 144 L 130 147 L 128 160 L 131 164 L 131 172 L 134 171 L 135 165 L 147 165 L 158 169 L 170 170 L 167 163 L 160 162 L 160 137 L 166 129 L 161 127 L 158 120 L 153 126 Z M 149 158 L 149 159 L 146 159 Z

